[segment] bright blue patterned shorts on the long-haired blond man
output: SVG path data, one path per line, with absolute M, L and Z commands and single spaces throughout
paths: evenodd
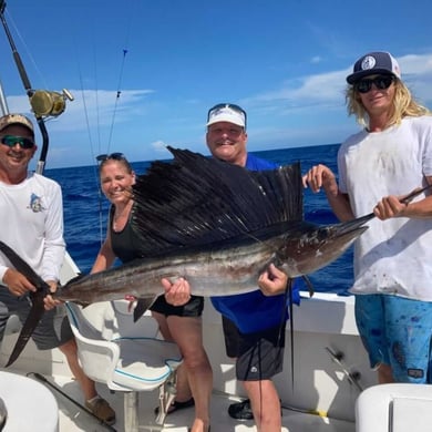
M 356 322 L 371 368 L 389 364 L 397 382 L 431 383 L 431 301 L 357 295 Z

